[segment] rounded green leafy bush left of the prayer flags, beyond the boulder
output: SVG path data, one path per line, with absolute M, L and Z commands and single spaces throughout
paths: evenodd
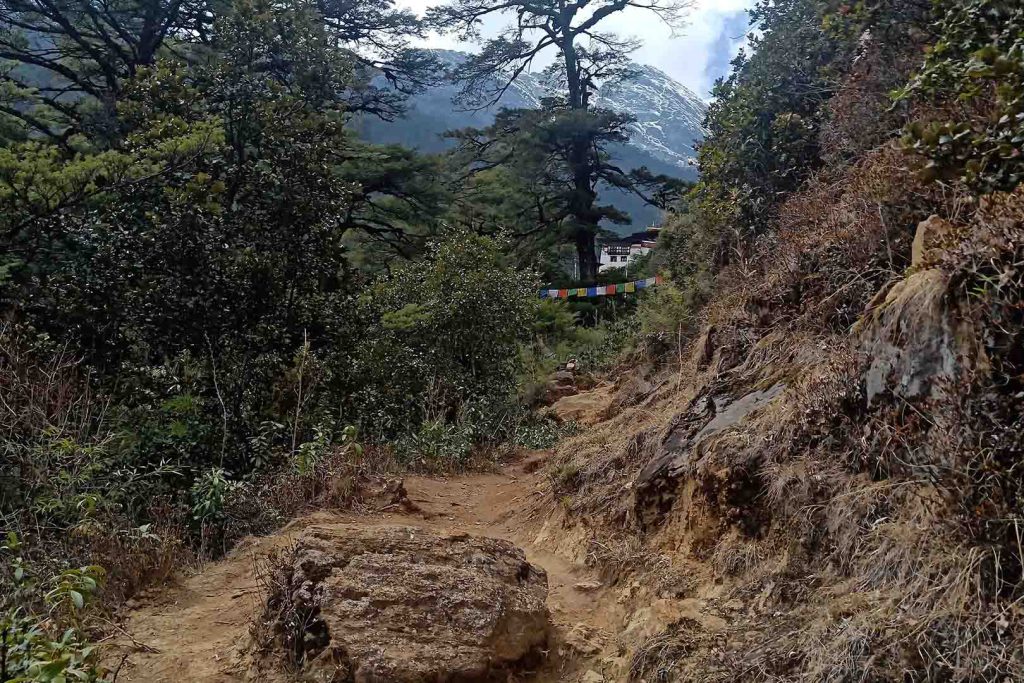
M 369 326 L 355 371 L 365 431 L 390 437 L 441 424 L 474 442 L 498 437 L 515 410 L 537 289 L 498 242 L 462 231 L 379 280 L 359 302 Z

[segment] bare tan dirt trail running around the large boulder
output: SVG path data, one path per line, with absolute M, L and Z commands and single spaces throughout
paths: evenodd
M 409 524 L 439 532 L 465 531 L 511 541 L 530 562 L 548 572 L 548 605 L 554 624 L 554 642 L 543 671 L 530 676 L 539 682 L 575 680 L 582 663 L 569 654 L 588 649 L 587 634 L 607 634 L 613 601 L 596 578 L 535 540 L 542 528 L 543 475 L 537 461 L 508 467 L 498 474 L 451 478 L 407 477 L 409 499 L 418 512 L 385 510 L 372 515 L 316 512 L 298 519 L 281 532 L 253 539 L 222 561 L 212 563 L 179 586 L 160 592 L 137 607 L 116 642 L 114 665 L 127 656 L 119 681 L 227 682 L 248 680 L 249 624 L 262 608 L 254 567 L 268 552 L 284 548 L 310 524 Z M 580 586 L 583 584 L 584 586 Z M 581 635 L 581 632 L 583 635 Z M 565 644 L 575 642 L 575 649 Z M 594 648 L 596 649 L 596 648 Z

